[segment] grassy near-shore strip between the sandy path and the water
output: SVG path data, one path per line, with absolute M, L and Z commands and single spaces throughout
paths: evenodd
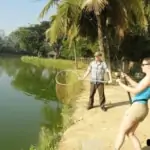
M 82 88 L 81 88 L 82 87 Z M 39 132 L 39 143 L 38 145 L 31 145 L 29 150 L 59 150 L 59 145 L 63 139 L 63 135 L 65 132 L 75 124 L 75 120 L 73 119 L 73 114 L 76 111 L 76 100 L 83 92 L 83 83 L 82 86 L 78 87 L 78 94 L 71 100 L 73 103 L 71 104 L 63 104 L 61 116 L 63 120 L 62 129 L 58 133 L 54 133 L 51 135 L 50 131 L 47 128 L 41 128 Z M 52 147 L 49 147 L 53 143 Z

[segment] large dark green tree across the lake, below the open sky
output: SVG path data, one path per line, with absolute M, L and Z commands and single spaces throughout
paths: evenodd
M 33 55 L 47 56 L 50 50 L 46 42 L 45 31 L 49 28 L 49 22 L 44 21 L 40 24 L 29 27 L 20 27 L 9 35 L 18 50 L 27 51 Z

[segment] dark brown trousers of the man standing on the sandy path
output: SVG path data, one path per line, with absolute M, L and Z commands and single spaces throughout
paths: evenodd
M 104 93 L 104 84 L 103 83 L 90 83 L 90 97 L 89 97 L 89 104 L 88 108 L 92 108 L 94 104 L 94 95 L 96 93 L 96 90 L 98 90 L 99 94 L 99 101 L 100 101 L 100 107 L 105 107 L 105 93 Z

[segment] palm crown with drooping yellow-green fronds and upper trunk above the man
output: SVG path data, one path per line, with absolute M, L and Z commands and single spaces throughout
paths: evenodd
M 60 35 L 68 36 L 71 41 L 75 37 L 89 37 L 99 42 L 99 50 L 109 52 L 107 44 L 107 23 L 119 37 L 130 29 L 130 25 L 138 24 L 146 29 L 147 21 L 142 0 L 62 0 L 58 5 L 57 14 L 52 17 L 52 24 L 47 37 L 53 43 Z M 75 29 L 76 28 L 76 29 Z M 73 34 L 76 31 L 76 34 Z

